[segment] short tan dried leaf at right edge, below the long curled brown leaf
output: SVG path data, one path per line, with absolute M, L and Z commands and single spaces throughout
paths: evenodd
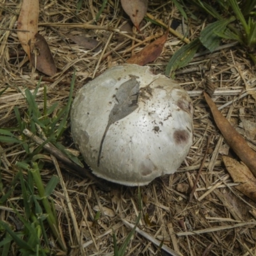
M 234 182 L 241 183 L 236 189 L 256 202 L 256 179 L 248 167 L 227 156 L 223 156 L 223 162 Z

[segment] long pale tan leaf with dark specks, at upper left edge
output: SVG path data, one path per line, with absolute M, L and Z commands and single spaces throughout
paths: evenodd
M 17 29 L 24 30 L 18 31 L 22 48 L 28 54 L 30 59 L 30 52 L 33 51 L 35 45 L 35 35 L 37 33 L 39 15 L 39 1 L 38 0 L 23 0 L 20 15 L 17 22 Z M 30 43 L 29 43 L 30 42 Z

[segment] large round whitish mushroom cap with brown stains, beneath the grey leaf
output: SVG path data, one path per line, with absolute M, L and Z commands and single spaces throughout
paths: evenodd
M 131 77 L 140 84 L 138 107 L 109 124 L 109 114 L 120 104 L 118 88 Z M 106 70 L 77 92 L 70 116 L 72 136 L 92 172 L 127 186 L 174 173 L 193 141 L 188 93 L 172 79 L 152 74 L 149 67 L 127 64 Z

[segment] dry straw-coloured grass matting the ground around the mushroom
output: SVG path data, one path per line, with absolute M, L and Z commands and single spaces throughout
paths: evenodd
M 131 52 L 140 51 L 148 44 L 149 39 L 163 35 L 164 29 L 150 22 L 141 28 L 143 35 L 122 31 L 120 28 L 127 23 L 127 17 L 123 18 L 124 12 L 119 1 L 108 3 L 97 27 L 93 23 L 93 17 L 99 12 L 101 1 L 84 1 L 79 12 L 76 12 L 77 1 L 74 0 L 40 3 L 39 32 L 45 36 L 54 54 L 58 74 L 50 82 L 42 80 L 36 98 L 39 108 L 43 108 L 45 84 L 48 106 L 58 102 L 58 108 L 61 108 L 67 103 L 74 69 L 77 70 L 74 88 L 77 91 L 86 81 L 107 68 L 125 63 Z M 164 24 L 168 24 L 169 19 L 181 19 L 170 1 L 162 6 L 161 3 L 150 2 L 148 13 Z M 26 111 L 24 90 L 28 88 L 33 91 L 40 74 L 26 62 L 15 33 L 19 1 L 2 3 L 0 10 L 0 92 L 3 92 L 0 96 L 0 127 L 17 127 L 13 108 L 17 106 L 20 113 Z M 205 26 L 204 17 L 198 18 L 202 22 L 189 20 L 190 40 Z M 57 23 L 61 24 L 58 28 L 54 26 Z M 67 26 L 67 23 L 81 26 Z M 65 36 L 68 34 L 97 38 L 102 42 L 102 47 L 98 52 L 88 51 L 68 40 Z M 164 68 L 173 52 L 182 44 L 179 39 L 170 35 L 161 56 L 150 64 L 152 71 L 164 74 Z M 223 47 L 212 54 L 194 58 L 181 73 L 177 72 L 177 81 L 189 91 L 195 107 L 193 146 L 179 172 L 156 179 L 141 188 L 143 216 L 147 214 L 150 222 L 141 218 L 138 228 L 180 255 L 207 255 L 209 250 L 210 255 L 256 253 L 255 214 L 250 214 L 256 211 L 256 205 L 236 190 L 236 184 L 227 175 L 221 162 L 221 154 L 226 154 L 227 145 L 212 122 L 202 95 L 198 93 L 204 90 L 202 78 L 205 70 L 207 72 L 207 62 L 211 60 L 211 79 L 218 87 L 216 92 L 225 90 L 225 93 L 216 93 L 214 96 L 214 101 L 220 108 L 225 106 L 222 109 L 223 115 L 227 115 L 237 127 L 239 108 L 243 107 L 246 109 L 246 118 L 255 121 L 255 95 L 246 93 L 243 98 L 239 98 L 245 89 L 255 89 L 255 67 L 250 60 L 244 58 L 243 51 L 237 45 Z M 201 66 L 205 68 L 198 69 Z M 189 192 L 204 158 L 208 136 L 212 136 L 209 152 L 196 184 L 193 200 L 189 202 Z M 69 128 L 63 134 L 61 143 L 66 148 L 75 149 Z M 0 152 L 3 191 L 6 191 L 17 173 L 15 161 L 26 158 L 26 154 L 21 147 L 10 147 L 4 143 L 0 145 Z M 41 170 L 45 184 L 53 174 L 61 178 L 52 198 L 61 237 L 69 248 L 68 254 L 113 255 L 112 230 L 118 243 L 122 243 L 130 231 L 124 221 L 132 225 L 138 216 L 138 189 L 113 184 L 111 191 L 106 192 L 95 187 L 90 179 L 81 179 L 65 172 L 65 168 L 59 166 L 61 163 L 54 157 L 49 157 L 47 152 L 42 154 L 49 161 L 44 170 Z M 17 211 L 22 213 L 19 189 L 13 191 L 4 205 L 0 205 L 0 219 L 14 225 L 11 217 L 15 214 L 9 202 L 15 204 Z M 95 209 L 101 212 L 99 220 L 95 220 Z M 49 237 L 49 241 L 52 248 L 56 249 L 55 246 L 58 245 L 54 243 L 53 237 Z M 64 254 L 59 252 L 58 255 Z M 127 255 L 162 254 L 147 237 L 135 234 L 128 246 Z

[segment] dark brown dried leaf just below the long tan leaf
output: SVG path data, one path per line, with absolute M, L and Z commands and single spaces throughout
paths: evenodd
M 56 65 L 44 36 L 36 33 L 35 47 L 38 54 L 31 52 L 31 64 L 47 76 L 56 74 Z

